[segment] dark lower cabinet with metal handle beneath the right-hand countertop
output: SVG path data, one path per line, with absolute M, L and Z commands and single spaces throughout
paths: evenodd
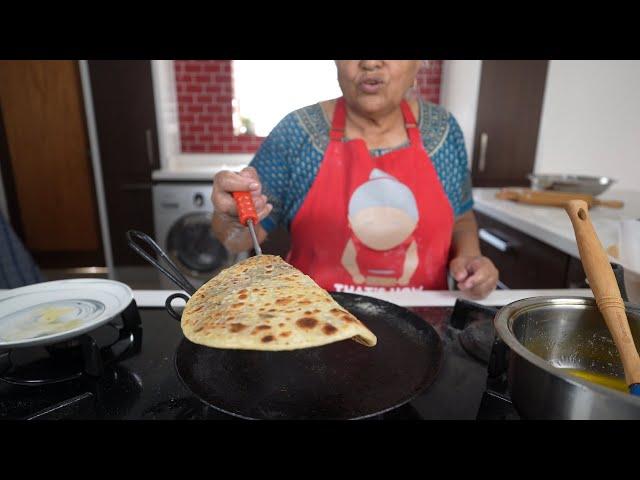
M 480 248 L 512 289 L 584 288 L 582 264 L 556 248 L 480 212 Z

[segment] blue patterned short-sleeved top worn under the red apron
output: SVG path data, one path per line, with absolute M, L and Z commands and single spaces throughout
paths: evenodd
M 462 130 L 444 108 L 423 99 L 418 104 L 418 127 L 424 147 L 458 217 L 473 207 Z M 316 103 L 284 117 L 256 152 L 251 166 L 258 171 L 263 192 L 273 205 L 262 221 L 267 232 L 280 224 L 287 228 L 291 225 L 318 173 L 329 145 L 330 128 L 330 121 Z M 404 146 L 372 150 L 371 154 L 382 155 Z

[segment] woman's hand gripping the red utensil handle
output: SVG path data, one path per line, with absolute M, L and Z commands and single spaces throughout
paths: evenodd
M 267 196 L 262 193 L 258 172 L 253 167 L 247 167 L 238 173 L 223 170 L 213 178 L 211 202 L 214 214 L 234 217 L 234 220 L 239 224 L 238 210 L 231 195 L 232 192 L 251 192 L 258 221 L 263 220 L 273 209 L 273 205 L 268 203 Z

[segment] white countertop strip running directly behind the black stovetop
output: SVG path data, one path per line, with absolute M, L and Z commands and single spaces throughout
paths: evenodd
M 134 290 L 133 297 L 139 307 L 162 307 L 167 297 L 181 290 Z M 367 293 L 370 297 L 395 303 L 402 307 L 452 307 L 456 299 L 465 298 L 458 291 L 424 291 L 424 292 L 375 292 Z M 565 290 L 496 290 L 484 300 L 473 300 L 489 306 L 503 306 L 516 300 L 530 297 L 593 297 L 589 289 Z M 179 307 L 182 302 L 174 300 Z

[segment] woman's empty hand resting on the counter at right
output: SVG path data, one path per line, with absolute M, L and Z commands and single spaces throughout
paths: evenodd
M 485 298 L 498 284 L 498 269 L 487 257 L 456 257 L 449 263 L 449 271 L 458 288 L 473 299 Z

